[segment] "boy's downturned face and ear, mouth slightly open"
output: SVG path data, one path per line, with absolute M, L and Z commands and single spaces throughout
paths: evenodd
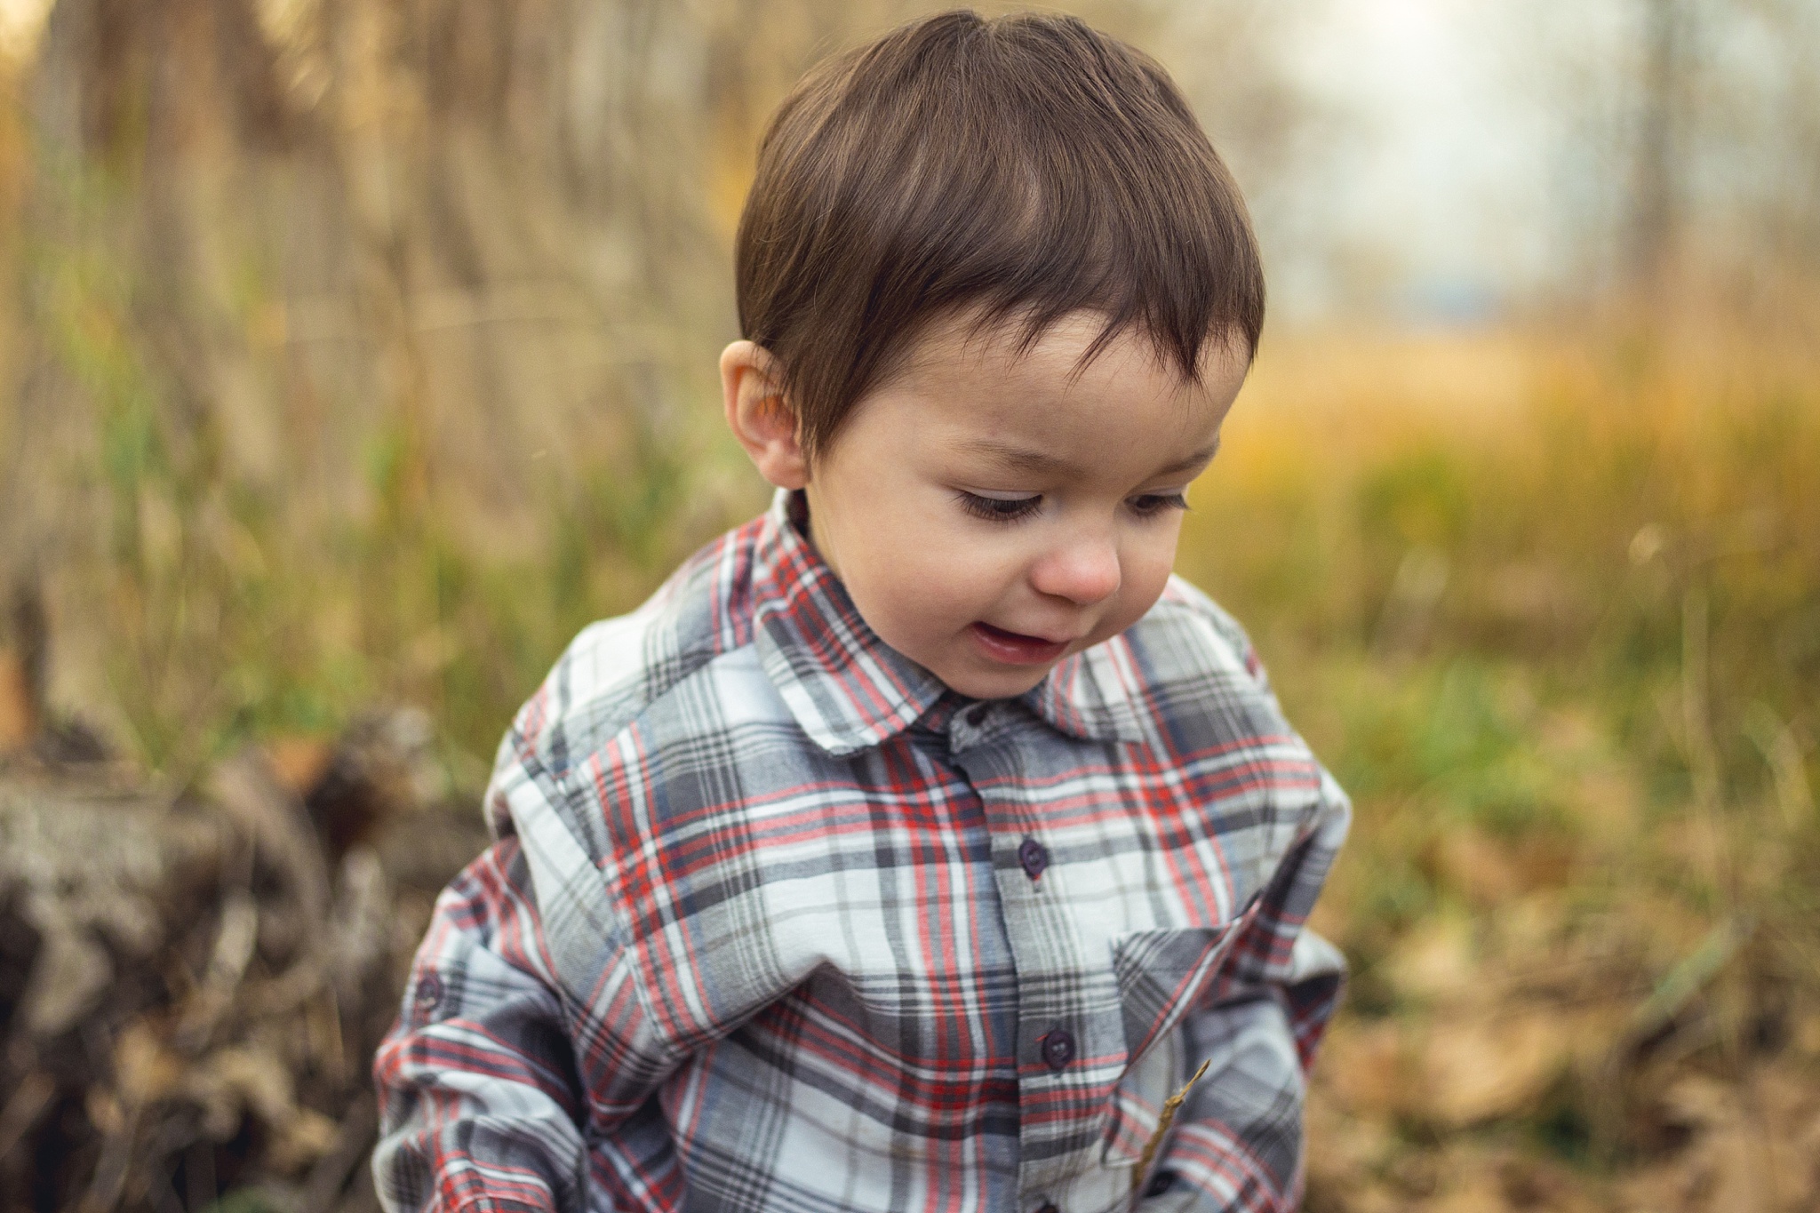
M 1023 355 L 1014 326 L 937 326 L 814 466 L 743 431 L 737 398 L 764 376 L 726 380 L 746 342 L 723 356 L 728 418 L 766 478 L 808 491 L 812 542 L 861 617 L 963 695 L 1021 695 L 1150 609 L 1245 378 L 1212 342 L 1188 384 L 1138 333 L 1083 366 L 1103 324 L 1067 316 Z

